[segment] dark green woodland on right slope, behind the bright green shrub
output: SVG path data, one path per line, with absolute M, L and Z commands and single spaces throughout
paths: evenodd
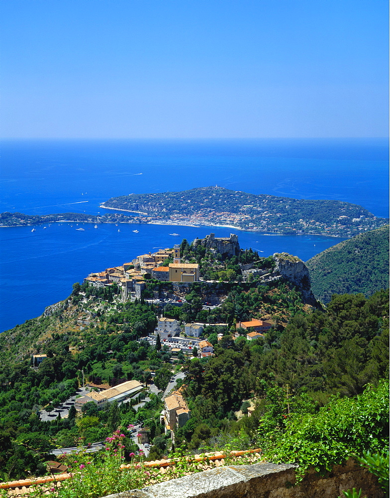
M 388 376 L 388 327 L 388 293 L 381 291 L 368 300 L 362 294 L 334 296 L 325 313 L 298 314 L 265 340 L 248 343 L 226 337 L 216 344 L 215 357 L 186 364 L 193 418 L 178 436 L 194 449 L 220 432 L 241 431 L 247 440 L 255 439 L 268 412 L 265 395 L 270 387 L 281 389 L 285 406 L 279 418 L 271 413 L 276 425 L 289 411 L 291 396 L 297 396 L 299 406 L 307 402 L 317 411 L 333 394 L 362 393 L 368 382 Z M 256 410 L 235 421 L 245 399 Z

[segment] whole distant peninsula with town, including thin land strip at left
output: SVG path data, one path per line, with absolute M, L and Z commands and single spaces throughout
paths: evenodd
M 223 187 L 201 187 L 182 192 L 130 194 L 112 197 L 100 208 L 122 213 L 90 215 L 62 213 L 44 216 L 1 213 L 0 227 L 51 222 L 152 223 L 159 225 L 229 226 L 237 230 L 281 235 L 314 234 L 353 237 L 380 228 L 378 218 L 356 204 L 335 200 L 307 200 L 255 195 Z

